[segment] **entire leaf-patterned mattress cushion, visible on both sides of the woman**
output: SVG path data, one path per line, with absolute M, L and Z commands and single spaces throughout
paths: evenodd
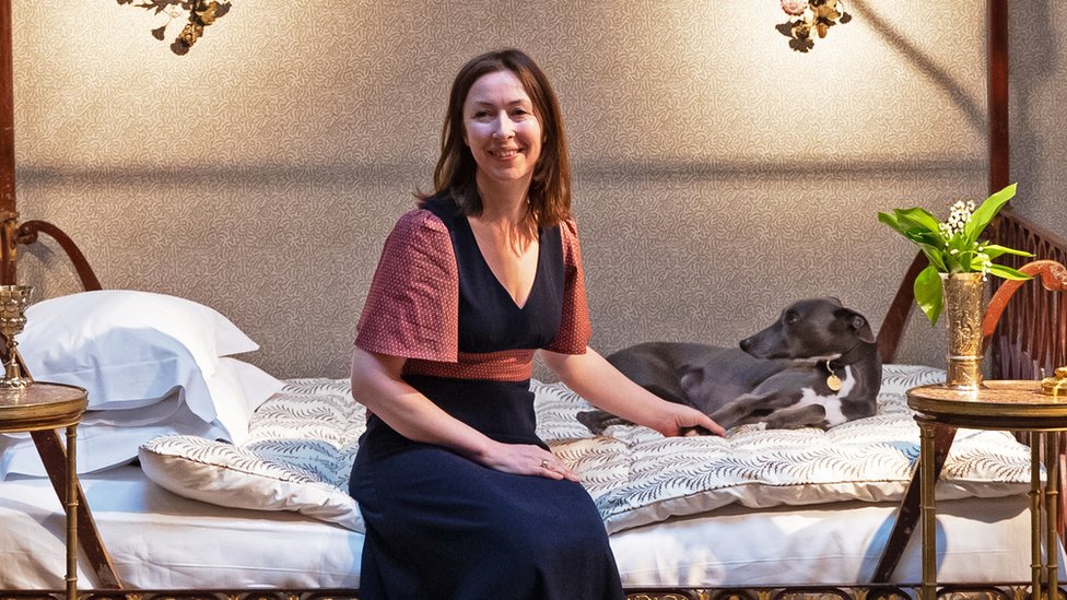
M 929 367 L 886 365 L 875 416 L 829 431 L 735 428 L 726 438 L 664 438 L 615 425 L 591 437 L 575 420 L 589 405 L 562 384 L 534 381 L 538 433 L 579 474 L 609 531 L 714 510 L 845 499 L 899 501 L 918 456 L 904 391 L 943 380 Z M 363 530 L 349 477 L 365 412 L 348 380 L 291 379 L 265 402 L 241 446 L 157 437 L 141 466 L 177 494 L 262 510 L 295 510 Z M 1005 496 L 1029 485 L 1030 454 L 1010 434 L 961 430 L 938 497 Z

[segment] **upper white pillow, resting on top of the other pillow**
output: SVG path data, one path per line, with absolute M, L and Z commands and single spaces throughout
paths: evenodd
M 16 339 L 35 379 L 85 388 L 91 410 L 152 404 L 180 386 L 204 422 L 219 415 L 208 386 L 219 357 L 259 349 L 213 308 L 127 290 L 32 304 Z

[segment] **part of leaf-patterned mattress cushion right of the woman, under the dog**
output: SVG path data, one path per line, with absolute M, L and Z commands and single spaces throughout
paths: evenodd
M 900 501 L 918 458 L 908 388 L 945 381 L 941 369 L 884 365 L 873 416 L 819 428 L 744 425 L 725 438 L 672 437 L 614 425 L 589 438 L 575 414 L 589 405 L 561 385 L 535 385 L 539 434 L 582 478 L 609 531 L 729 504 L 753 508 L 860 499 Z M 1030 450 L 1005 432 L 960 430 L 938 498 L 1000 497 L 1029 490 Z

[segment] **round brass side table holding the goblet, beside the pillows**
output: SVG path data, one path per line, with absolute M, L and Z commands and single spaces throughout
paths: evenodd
M 67 430 L 67 598 L 78 598 L 78 469 L 75 439 L 89 398 L 84 389 L 35 381 L 27 388 L 0 389 L 0 433 Z M 36 436 L 35 436 L 36 442 Z M 40 446 L 38 445 L 38 451 Z M 45 460 L 45 457 L 42 456 Z M 46 461 L 47 462 L 47 461 Z

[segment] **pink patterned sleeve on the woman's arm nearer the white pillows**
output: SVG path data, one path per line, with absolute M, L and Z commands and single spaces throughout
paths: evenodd
M 448 230 L 411 211 L 385 240 L 356 325 L 367 352 L 454 363 L 459 344 L 459 275 Z

